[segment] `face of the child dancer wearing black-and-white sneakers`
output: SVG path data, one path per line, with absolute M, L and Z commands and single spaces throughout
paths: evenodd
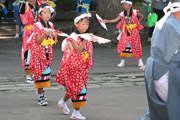
M 49 21 L 49 19 L 51 18 L 51 11 L 49 8 L 45 8 L 42 10 L 40 17 L 42 20 L 44 21 Z

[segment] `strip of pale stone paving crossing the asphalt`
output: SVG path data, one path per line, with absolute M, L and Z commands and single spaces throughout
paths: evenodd
M 34 84 L 27 84 L 24 76 L 0 77 L 0 91 L 34 91 Z M 144 74 L 142 73 L 101 73 L 89 74 L 88 88 L 105 88 L 121 86 L 144 86 Z M 55 76 L 51 78 L 50 90 L 62 88 L 55 82 Z

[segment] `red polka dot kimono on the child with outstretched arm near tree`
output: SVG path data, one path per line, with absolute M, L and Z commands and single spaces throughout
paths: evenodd
M 128 23 L 125 19 L 124 12 L 120 13 L 122 19 L 116 26 L 117 29 L 120 29 L 123 32 L 117 45 L 118 54 L 121 56 L 121 53 L 126 49 L 126 46 L 130 43 L 133 56 L 136 58 L 136 60 L 139 60 L 142 56 L 139 30 L 143 29 L 143 26 L 139 23 L 136 17 L 138 12 L 139 12 L 138 10 L 133 10 L 132 12 L 131 23 L 130 23 L 130 25 L 133 26 L 133 27 L 131 26 L 132 29 L 128 28 L 127 26 Z M 130 32 L 129 36 L 127 36 L 128 31 Z

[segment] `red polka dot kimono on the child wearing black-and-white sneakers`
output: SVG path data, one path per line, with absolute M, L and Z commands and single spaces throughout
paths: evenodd
M 54 29 L 54 26 L 51 22 L 49 22 L 49 25 L 51 29 Z M 34 79 L 35 82 L 39 79 L 39 77 L 44 73 L 47 66 L 51 66 L 51 61 L 53 58 L 53 45 L 49 44 L 49 60 L 46 59 L 46 53 L 45 53 L 45 46 L 44 45 L 38 45 L 36 42 L 36 34 L 40 34 L 42 36 L 45 33 L 45 30 L 42 29 L 44 26 L 37 22 L 33 25 L 32 31 L 34 35 L 32 36 L 32 39 L 28 43 L 28 47 L 31 50 L 31 58 L 30 58 L 30 70 L 34 73 Z M 53 36 L 50 35 L 48 39 L 51 39 Z M 46 38 L 47 39 L 47 38 Z

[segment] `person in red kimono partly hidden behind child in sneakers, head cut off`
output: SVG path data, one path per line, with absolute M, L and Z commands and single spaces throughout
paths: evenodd
M 32 72 L 29 70 L 30 53 L 27 43 L 31 39 L 32 30 L 31 27 L 34 23 L 40 21 L 37 8 L 39 5 L 45 3 L 41 0 L 28 0 L 27 2 L 21 2 L 19 4 L 19 12 L 21 16 L 22 24 L 24 27 L 23 34 L 23 47 L 22 47 L 22 65 L 25 69 L 26 81 L 28 83 L 34 83 L 32 79 Z M 52 14 L 55 15 L 55 14 Z M 54 18 L 53 16 L 51 18 Z

